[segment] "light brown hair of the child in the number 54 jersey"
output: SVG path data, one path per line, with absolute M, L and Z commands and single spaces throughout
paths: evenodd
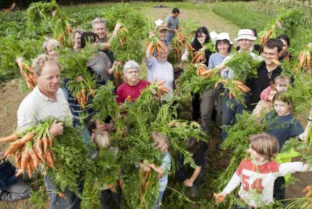
M 268 160 L 279 154 L 279 141 L 270 134 L 252 134 L 249 136 L 248 141 L 253 150 Z

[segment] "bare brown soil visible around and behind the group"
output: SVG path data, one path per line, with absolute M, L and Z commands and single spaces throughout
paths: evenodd
M 164 20 L 164 18 L 171 13 L 171 8 L 143 8 L 148 17 L 151 17 L 155 20 L 158 18 Z M 227 31 L 230 33 L 231 38 L 235 38 L 238 31 L 238 27 L 233 23 L 224 20 L 222 17 L 214 15 L 211 10 L 181 10 L 179 19 L 180 22 L 183 20 L 191 19 L 198 26 L 207 26 L 210 31 Z M 2 105 L 0 106 L 0 137 L 11 134 L 17 124 L 17 109 L 20 105 L 20 102 L 26 95 L 23 93 L 20 88 L 21 80 L 13 79 L 10 82 L 6 82 L 0 86 L 0 98 Z M 191 109 L 187 109 L 191 111 Z M 186 114 L 190 116 L 191 114 Z M 210 175 L 209 171 L 216 171 L 220 169 L 225 169 L 228 165 L 228 160 L 230 159 L 227 153 L 220 152 L 217 150 L 217 144 L 219 143 L 218 130 L 214 130 L 214 134 L 217 137 L 214 137 L 209 143 L 208 156 L 207 156 L 207 172 L 206 178 L 213 178 Z M 302 189 L 311 183 L 312 173 L 295 173 L 295 178 L 297 182 L 286 189 L 287 198 L 296 198 L 302 196 Z M 208 185 L 208 187 L 210 187 Z M 204 191 L 205 199 L 208 200 L 212 197 L 212 192 L 217 191 Z M 46 204 L 47 205 L 47 204 Z M 29 205 L 28 200 L 17 201 L 13 203 L 0 203 L 0 208 L 33 208 Z M 47 208 L 47 206 L 45 207 Z M 197 206 L 192 206 L 192 208 L 198 208 Z

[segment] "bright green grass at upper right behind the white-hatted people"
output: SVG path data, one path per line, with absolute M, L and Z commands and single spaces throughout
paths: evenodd
M 229 20 L 240 28 L 256 28 L 257 32 L 264 31 L 271 26 L 276 18 L 286 11 L 297 8 L 297 5 L 290 6 L 288 3 L 262 3 L 251 2 L 221 2 L 212 3 L 212 11 L 226 20 Z M 301 7 L 299 10 L 309 12 L 308 8 Z M 308 14 L 308 13 L 306 13 Z M 302 20 L 296 27 L 294 34 L 290 36 L 290 48 L 300 50 L 307 42 L 312 40 L 312 21 L 309 16 Z M 292 35 L 292 36 L 291 36 Z

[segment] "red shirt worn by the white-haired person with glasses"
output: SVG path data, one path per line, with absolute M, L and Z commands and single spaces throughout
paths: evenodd
M 146 86 L 150 85 L 150 82 L 146 80 L 139 81 L 139 84 L 135 86 L 130 86 L 127 83 L 123 83 L 120 86 L 118 86 L 116 91 L 116 101 L 118 104 L 125 102 L 125 99 L 130 96 L 132 100 L 136 100 L 139 98 L 139 95 L 141 95 L 141 91 L 146 88 Z

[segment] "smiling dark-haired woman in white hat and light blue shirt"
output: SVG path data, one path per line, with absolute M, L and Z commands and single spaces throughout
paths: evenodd
M 217 52 L 213 53 L 208 61 L 208 68 L 216 68 L 231 52 L 232 42 L 228 33 L 219 33 L 216 37 L 216 49 Z M 210 88 L 204 91 L 201 98 L 201 127 L 205 132 L 209 132 L 209 126 L 212 123 L 211 116 L 214 109 L 214 99 L 218 100 L 218 105 L 215 107 L 217 110 L 216 122 L 221 125 L 221 102 L 219 100 L 220 91 L 214 91 Z

